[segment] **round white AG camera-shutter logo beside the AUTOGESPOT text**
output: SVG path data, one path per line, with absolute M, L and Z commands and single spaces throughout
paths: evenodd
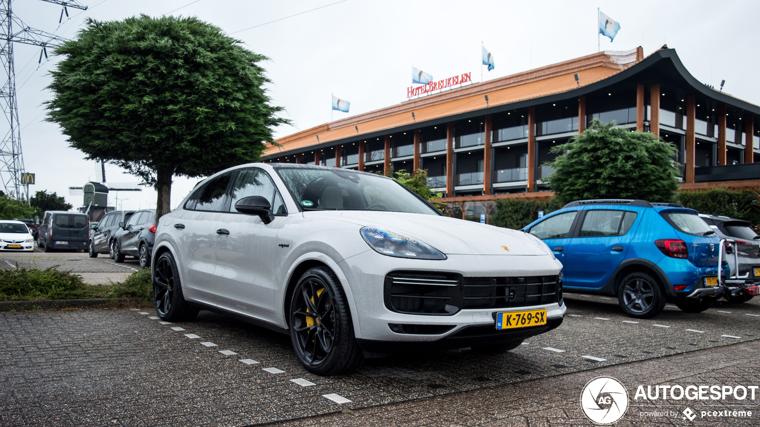
M 581 409 L 595 424 L 618 422 L 628 410 L 628 390 L 615 378 L 594 378 L 581 391 Z

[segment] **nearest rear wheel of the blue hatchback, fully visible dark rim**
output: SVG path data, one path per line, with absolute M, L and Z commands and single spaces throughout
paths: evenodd
M 633 272 L 620 281 L 618 303 L 628 316 L 651 319 L 663 311 L 666 302 L 660 282 L 647 273 Z

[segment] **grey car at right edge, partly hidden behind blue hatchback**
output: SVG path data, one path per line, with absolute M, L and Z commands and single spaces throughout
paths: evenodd
M 736 240 L 736 249 L 738 254 L 727 253 L 726 260 L 731 269 L 731 278 L 749 279 L 753 282 L 760 282 L 760 236 L 752 230 L 747 221 L 741 219 L 729 218 L 719 215 L 699 216 L 708 223 L 721 239 Z M 736 259 L 736 256 L 739 258 Z M 739 264 L 739 274 L 736 275 L 736 262 Z M 730 297 L 732 303 L 743 303 L 752 299 L 752 295 L 743 293 L 735 297 Z

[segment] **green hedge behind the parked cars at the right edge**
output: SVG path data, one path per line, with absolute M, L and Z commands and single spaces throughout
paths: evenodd
M 760 224 L 758 193 L 752 190 L 686 190 L 678 193 L 678 203 L 707 215 L 725 215 L 749 221 L 752 227 Z

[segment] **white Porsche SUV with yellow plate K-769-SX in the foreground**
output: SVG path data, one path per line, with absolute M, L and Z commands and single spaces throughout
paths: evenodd
M 537 237 L 349 169 L 214 174 L 160 218 L 152 259 L 161 319 L 208 309 L 290 334 L 320 375 L 397 351 L 511 350 L 565 316 L 562 265 Z

